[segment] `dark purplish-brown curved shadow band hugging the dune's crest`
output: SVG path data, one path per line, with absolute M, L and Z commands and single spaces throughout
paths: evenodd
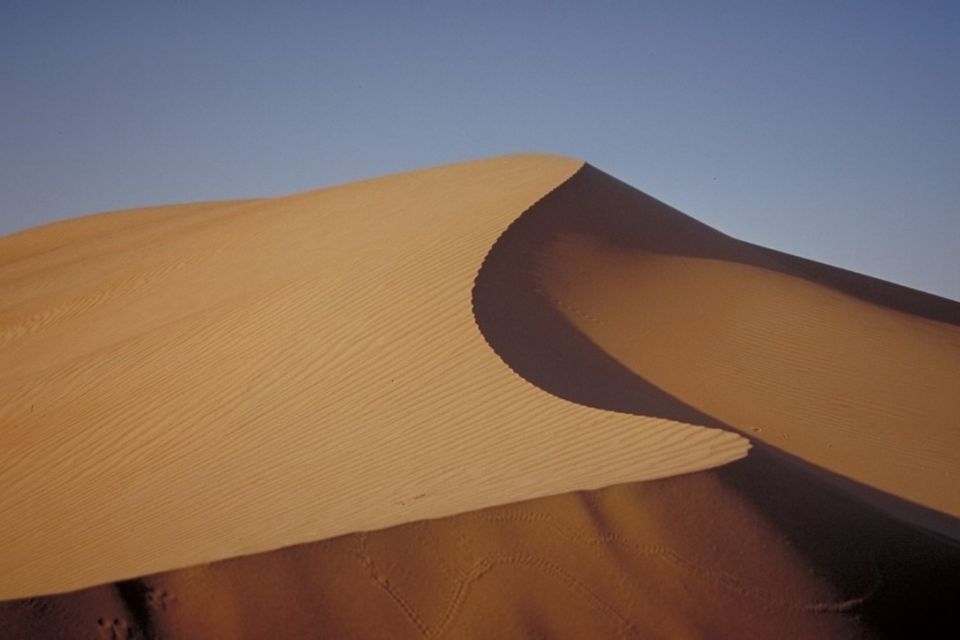
M 901 313 L 960 324 L 960 303 L 740 242 L 585 165 L 501 234 L 478 271 L 472 302 L 481 334 L 507 366 L 552 395 L 590 407 L 743 431 L 618 362 L 541 291 L 540 261 L 559 239 L 571 235 L 599 240 L 601 246 L 773 270 Z M 777 455 L 795 459 L 785 452 Z M 935 531 L 956 532 L 960 540 L 956 518 L 817 471 L 829 481 L 849 485 L 858 498 L 881 501 Z

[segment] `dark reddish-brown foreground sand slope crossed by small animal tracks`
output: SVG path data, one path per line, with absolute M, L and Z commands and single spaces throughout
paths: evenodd
M 70 594 L 0 638 L 952 637 L 960 549 L 764 447 L 568 493 Z

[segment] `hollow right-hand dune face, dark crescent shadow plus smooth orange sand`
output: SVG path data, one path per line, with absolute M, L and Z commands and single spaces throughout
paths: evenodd
M 474 288 L 490 345 L 551 393 L 736 429 L 951 537 L 958 309 L 734 240 L 590 166 Z

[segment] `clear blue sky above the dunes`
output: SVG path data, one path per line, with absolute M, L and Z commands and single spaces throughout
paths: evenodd
M 0 234 L 520 151 L 960 299 L 960 2 L 0 0 Z

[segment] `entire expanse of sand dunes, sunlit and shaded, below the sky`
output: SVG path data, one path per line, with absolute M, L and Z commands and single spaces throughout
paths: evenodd
M 0 238 L 0 303 L 3 638 L 899 637 L 956 605 L 960 304 L 579 161 L 56 223 Z

